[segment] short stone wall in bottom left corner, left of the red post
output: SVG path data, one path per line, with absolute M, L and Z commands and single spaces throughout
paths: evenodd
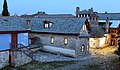
M 0 52 L 0 69 L 9 65 L 9 51 Z

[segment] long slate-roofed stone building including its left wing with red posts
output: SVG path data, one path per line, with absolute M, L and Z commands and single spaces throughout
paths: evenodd
M 78 57 L 89 54 L 89 22 L 75 17 L 0 17 L 0 68 L 20 66 L 31 61 L 19 45 L 35 45 L 46 50 L 57 48 L 59 54 Z M 47 49 L 48 49 L 47 48 Z M 10 50 L 9 50 L 10 49 Z M 65 50 L 65 51 L 64 51 Z M 4 55 L 5 56 L 2 56 Z M 24 60 L 26 59 L 26 60 Z

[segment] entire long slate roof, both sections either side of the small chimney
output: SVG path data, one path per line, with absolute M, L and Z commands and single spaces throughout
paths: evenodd
M 60 33 L 60 34 L 80 34 L 86 18 L 68 17 L 0 17 L 0 31 L 19 31 L 26 29 L 26 20 L 30 21 L 30 28 L 33 32 Z M 50 21 L 53 25 L 45 29 L 43 21 Z

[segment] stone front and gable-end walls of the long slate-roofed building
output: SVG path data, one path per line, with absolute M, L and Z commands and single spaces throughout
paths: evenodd
M 66 49 L 75 50 L 76 55 L 85 55 L 89 52 L 89 40 L 88 37 L 80 38 L 77 35 L 54 35 L 54 34 L 37 34 L 31 33 L 30 37 L 39 37 L 42 45 L 54 46 Z M 54 37 L 54 43 L 51 44 L 51 37 Z M 68 39 L 68 44 L 64 44 L 64 39 Z M 84 51 L 81 51 L 81 46 L 84 45 Z

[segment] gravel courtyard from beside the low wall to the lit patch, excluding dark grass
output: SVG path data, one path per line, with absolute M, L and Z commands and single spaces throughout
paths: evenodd
M 120 70 L 119 57 L 114 54 L 116 47 L 109 46 L 103 49 L 90 49 L 90 56 L 83 58 L 69 58 L 62 55 L 39 52 L 35 60 L 40 62 L 77 61 L 74 64 L 57 67 L 54 70 Z M 39 56 L 39 57 L 38 57 Z

